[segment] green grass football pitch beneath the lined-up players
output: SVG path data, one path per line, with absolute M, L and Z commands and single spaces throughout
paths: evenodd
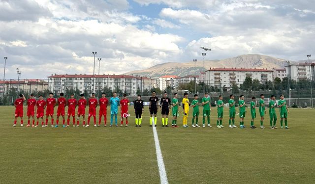
M 279 109 L 276 111 L 280 127 Z M 24 112 L 26 125 L 26 108 Z M 13 128 L 14 107 L 0 106 L 0 183 L 158 184 L 148 108 L 140 128 L 134 126 L 133 111 L 129 113 L 129 127 L 84 128 L 81 119 L 77 128 L 27 128 L 20 127 L 18 119 L 17 127 Z M 188 125 L 191 113 L 192 108 Z M 161 128 L 160 117 L 158 112 L 157 131 L 170 184 L 315 182 L 314 109 L 290 109 L 290 130 L 252 130 L 249 113 L 245 118 L 246 129 L 230 129 L 228 108 L 224 108 L 223 129 L 215 127 L 214 107 L 213 128 Z M 256 127 L 259 119 L 255 119 Z M 235 122 L 239 126 L 238 116 Z M 182 114 L 178 124 L 182 125 Z M 268 112 L 264 126 L 269 128 Z

